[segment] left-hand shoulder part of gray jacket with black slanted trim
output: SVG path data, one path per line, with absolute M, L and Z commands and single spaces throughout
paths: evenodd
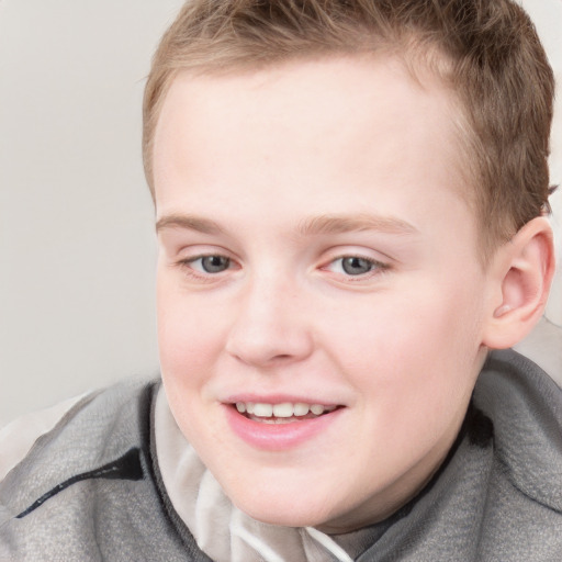
M 183 543 L 151 477 L 151 386 L 123 384 L 80 402 L 8 474 L 0 485 L 1 561 L 209 561 Z M 132 449 L 140 480 L 111 472 L 78 480 L 16 518 L 61 483 L 95 474 Z

